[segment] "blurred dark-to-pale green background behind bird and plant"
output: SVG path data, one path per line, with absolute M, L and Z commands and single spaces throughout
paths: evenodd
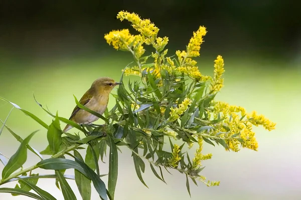
M 0 96 L 50 123 L 52 118 L 35 103 L 34 92 L 52 112 L 58 110 L 68 118 L 75 106 L 73 94 L 80 98 L 100 76 L 118 80 L 121 69 L 132 61 L 128 52 L 114 50 L 103 38 L 112 29 L 130 28 L 134 33 L 128 22 L 115 18 L 118 11 L 150 18 L 160 28 L 160 36 L 169 36 L 170 55 L 185 49 L 192 32 L 205 25 L 208 33 L 197 58 L 201 72 L 213 73 L 218 54 L 225 60 L 225 87 L 217 98 L 257 110 L 275 121 L 276 129 L 255 128 L 258 151 L 235 153 L 205 145 L 204 152 L 212 152 L 213 158 L 204 161 L 203 174 L 221 184 L 191 183 L 191 198 L 185 176 L 176 171 L 165 172 L 165 184 L 146 167 L 147 189 L 124 149 L 119 155 L 116 199 L 301 199 L 299 7 L 293 0 L 0 0 Z M 2 120 L 11 107 L 0 102 Z M 38 150 L 47 145 L 46 130 L 21 111 L 14 109 L 7 124 L 23 138 L 41 129 L 30 144 Z M 4 129 L 0 152 L 11 156 L 18 145 Z M 25 167 L 36 161 L 29 152 Z M 100 171 L 107 173 L 107 163 L 100 163 Z M 75 183 L 69 182 L 79 196 Z M 38 184 L 63 199 L 54 180 Z M 0 193 L 0 199 L 28 198 Z M 92 199 L 97 199 L 95 191 Z

